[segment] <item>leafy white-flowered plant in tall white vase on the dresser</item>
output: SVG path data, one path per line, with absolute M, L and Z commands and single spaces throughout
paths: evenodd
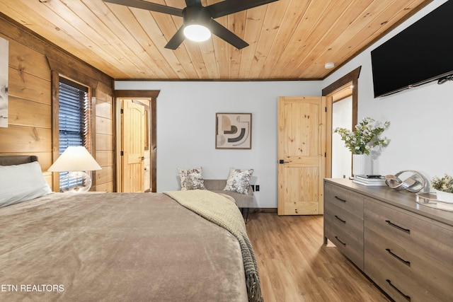
M 390 122 L 384 125 L 375 125 L 375 120 L 371 117 L 364 117 L 359 124 L 355 125 L 355 130 L 350 131 L 345 128 L 336 128 L 335 133 L 345 141 L 345 146 L 352 152 L 352 175 L 365 173 L 366 156 L 377 146 L 385 147 L 390 139 L 381 138 L 382 132 L 390 126 Z

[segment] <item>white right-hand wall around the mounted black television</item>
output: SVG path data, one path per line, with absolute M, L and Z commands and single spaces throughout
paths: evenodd
M 453 174 L 453 81 L 442 85 L 432 82 L 394 95 L 374 98 L 370 55 L 371 50 L 443 3 L 445 0 L 432 1 L 323 81 L 322 86 L 326 87 L 352 69 L 362 66 L 358 86 L 359 120 L 369 116 L 391 122 L 389 129 L 384 132 L 391 142 L 374 161 L 374 173 L 386 175 L 401 170 L 418 170 L 429 179 L 444 173 Z

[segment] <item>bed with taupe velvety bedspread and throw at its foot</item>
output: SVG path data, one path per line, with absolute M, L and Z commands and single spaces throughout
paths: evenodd
M 0 207 L 0 301 L 262 301 L 239 209 L 181 193 L 50 193 Z

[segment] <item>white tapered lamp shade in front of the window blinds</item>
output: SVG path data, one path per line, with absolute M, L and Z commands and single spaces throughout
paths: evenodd
M 101 166 L 84 146 L 69 146 L 50 166 L 48 171 L 92 171 L 101 170 Z

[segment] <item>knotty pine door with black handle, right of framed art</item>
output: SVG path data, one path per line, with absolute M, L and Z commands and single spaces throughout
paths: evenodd
M 278 214 L 323 214 L 326 98 L 278 98 Z

